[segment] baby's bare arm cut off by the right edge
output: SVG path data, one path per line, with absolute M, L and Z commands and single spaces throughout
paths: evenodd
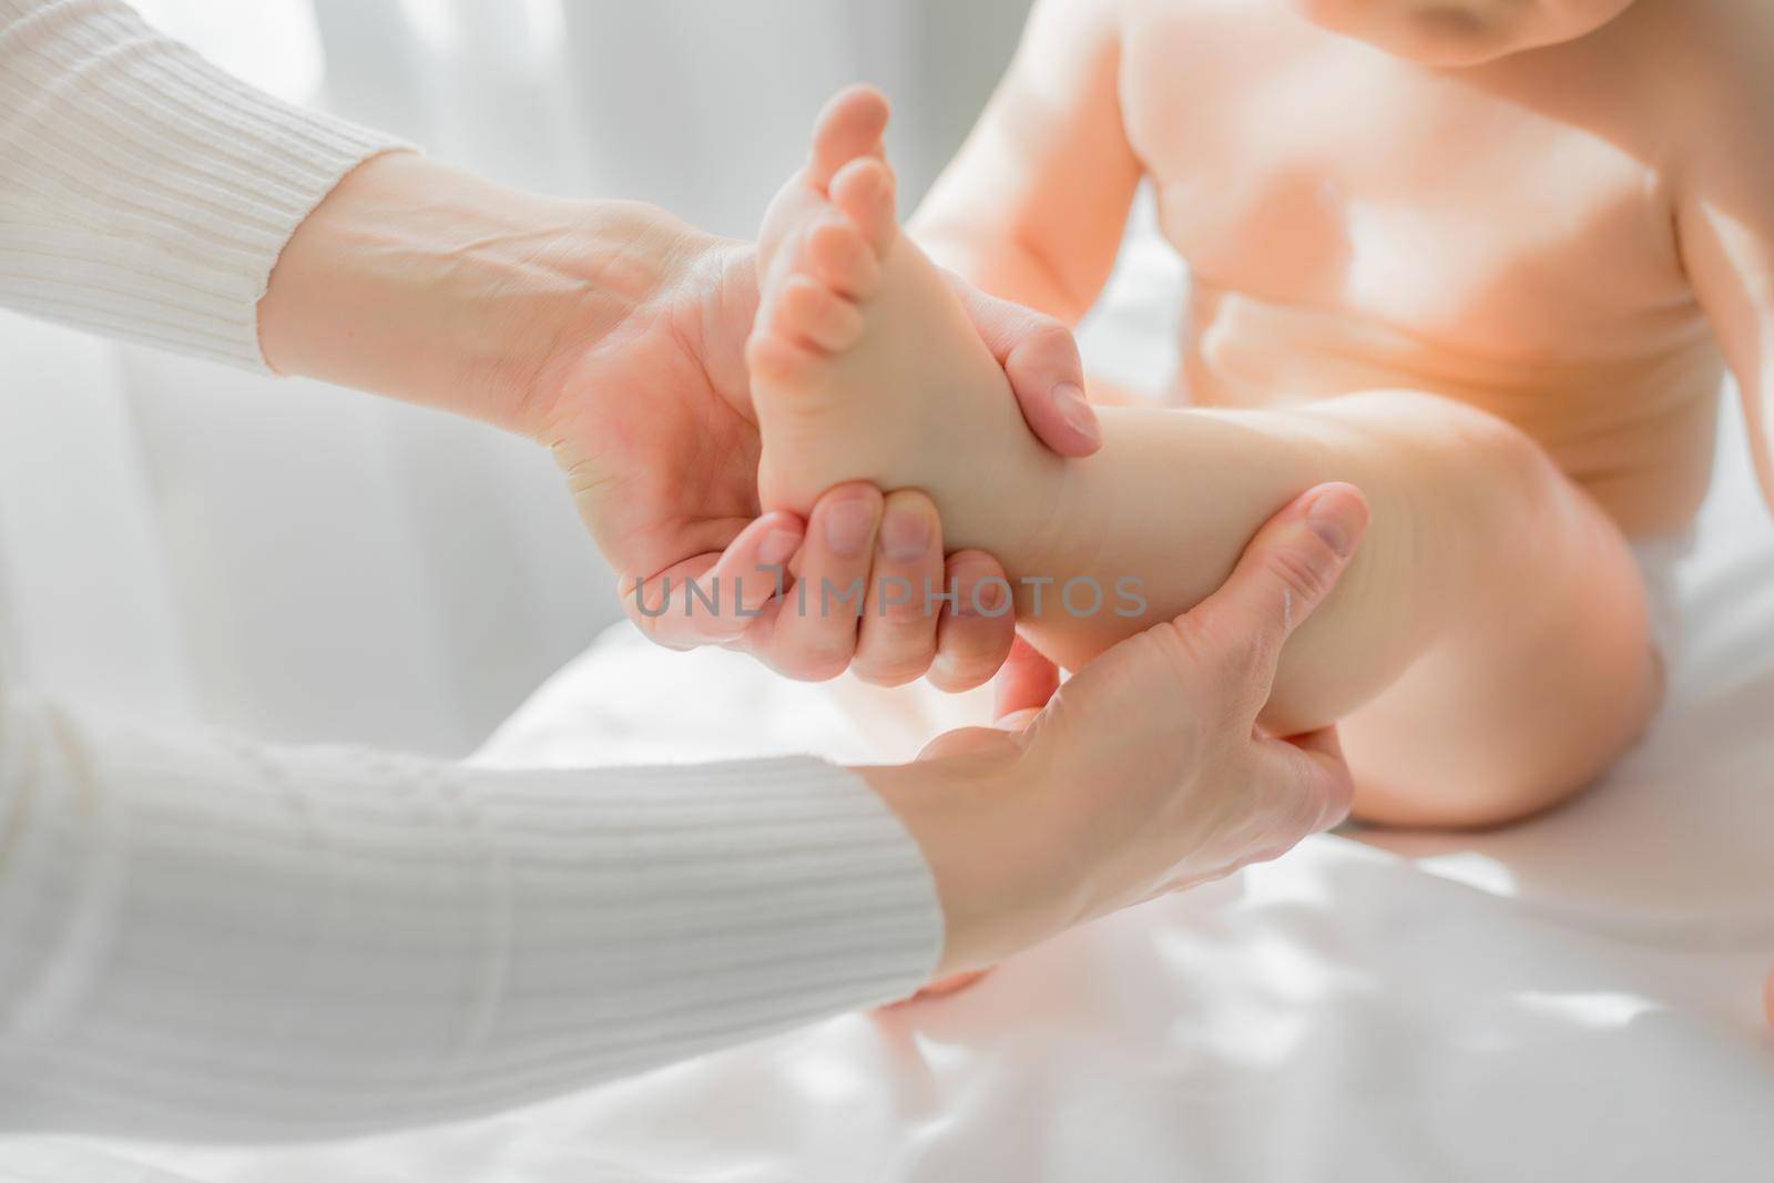
M 1740 5 L 1721 5 L 1730 12 Z M 1682 114 L 1682 261 L 1742 390 L 1762 495 L 1774 507 L 1774 32 L 1747 9 L 1708 30 L 1712 62 Z M 1721 21 L 1723 23 L 1723 21 Z

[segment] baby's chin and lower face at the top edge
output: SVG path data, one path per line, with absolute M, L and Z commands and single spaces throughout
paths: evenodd
M 1393 57 L 1435 69 L 1464 69 L 1584 37 L 1632 0 L 1579 0 L 1558 16 L 1535 0 L 1299 0 L 1313 23 Z

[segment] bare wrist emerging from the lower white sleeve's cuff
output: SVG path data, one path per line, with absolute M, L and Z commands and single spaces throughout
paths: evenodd
M 1008 736 L 958 756 L 857 773 L 917 841 L 944 917 L 935 977 L 979 970 L 1070 926 L 1063 844 L 1047 795 Z

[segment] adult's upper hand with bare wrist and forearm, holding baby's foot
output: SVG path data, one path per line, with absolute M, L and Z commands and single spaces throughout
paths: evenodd
M 954 282 L 1031 429 L 1063 456 L 1095 452 L 1071 333 Z M 296 231 L 259 326 L 280 372 L 458 411 L 553 449 L 580 516 L 626 576 L 630 617 L 662 644 L 727 644 L 804 679 L 855 662 L 871 681 L 928 670 L 946 688 L 981 685 L 1009 651 L 1008 615 L 752 615 L 791 557 L 797 571 L 843 575 L 836 585 L 848 587 L 869 575 L 880 539 L 921 518 L 924 553 L 898 566 L 963 587 L 1002 576 L 986 555 L 946 557 L 935 511 L 915 493 L 836 490 L 811 523 L 759 520 L 743 353 L 756 309 L 743 243 L 648 206 L 538 197 L 396 153 L 351 172 Z M 660 605 L 667 578 L 679 596 L 690 578 L 704 592 L 720 582 L 720 612 Z

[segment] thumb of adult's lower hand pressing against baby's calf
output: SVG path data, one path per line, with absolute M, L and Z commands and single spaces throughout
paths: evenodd
M 1181 621 L 1222 678 L 1268 701 L 1288 637 L 1343 578 L 1368 532 L 1368 502 L 1352 484 L 1322 484 L 1270 518 L 1231 578 Z

